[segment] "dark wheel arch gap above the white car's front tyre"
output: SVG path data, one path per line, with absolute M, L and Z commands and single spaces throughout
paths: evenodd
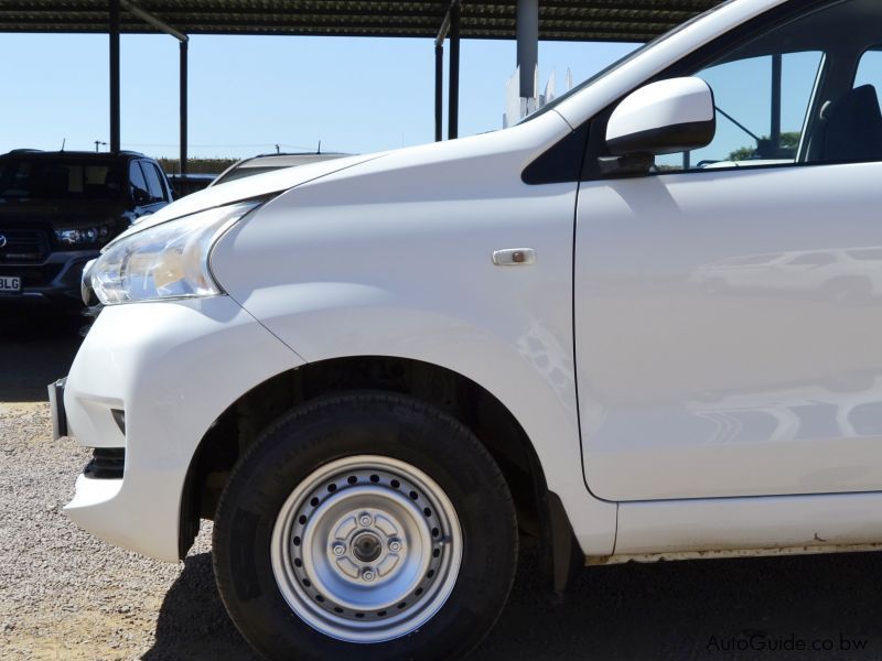
M 391 356 L 309 362 L 265 380 L 227 407 L 191 459 L 181 499 L 181 557 L 193 543 L 200 518 L 214 517 L 229 470 L 268 424 L 303 402 L 356 390 L 406 394 L 467 426 L 508 484 L 521 539 L 540 545 L 544 568 L 556 590 L 563 590 L 582 554 L 561 499 L 549 490 L 536 448 L 515 414 L 486 388 L 454 370 Z

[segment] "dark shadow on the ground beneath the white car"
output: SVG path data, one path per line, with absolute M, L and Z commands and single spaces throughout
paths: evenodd
M 535 553 L 526 553 L 508 605 L 471 658 L 878 660 L 880 560 L 854 553 L 595 567 L 553 605 Z M 800 641 L 806 649 L 772 649 Z M 208 553 L 186 560 L 143 657 L 181 658 L 255 659 L 224 611 Z

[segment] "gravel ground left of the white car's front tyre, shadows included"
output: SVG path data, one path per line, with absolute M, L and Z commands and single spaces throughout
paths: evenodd
M 173 565 L 62 513 L 89 452 L 52 441 L 45 384 L 78 342 L 67 324 L 0 325 L 0 659 L 254 659 L 214 585 L 211 523 Z

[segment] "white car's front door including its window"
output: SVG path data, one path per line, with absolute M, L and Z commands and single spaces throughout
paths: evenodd
M 696 73 L 718 108 L 708 148 L 582 182 L 576 355 L 595 496 L 882 489 L 880 44 L 868 0 L 761 31 Z

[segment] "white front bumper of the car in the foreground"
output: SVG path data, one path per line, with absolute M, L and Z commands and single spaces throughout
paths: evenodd
M 203 436 L 244 393 L 301 364 L 228 296 L 105 307 L 63 404 L 79 445 L 125 449 L 122 478 L 80 475 L 65 513 L 111 544 L 179 560 L 184 481 Z

